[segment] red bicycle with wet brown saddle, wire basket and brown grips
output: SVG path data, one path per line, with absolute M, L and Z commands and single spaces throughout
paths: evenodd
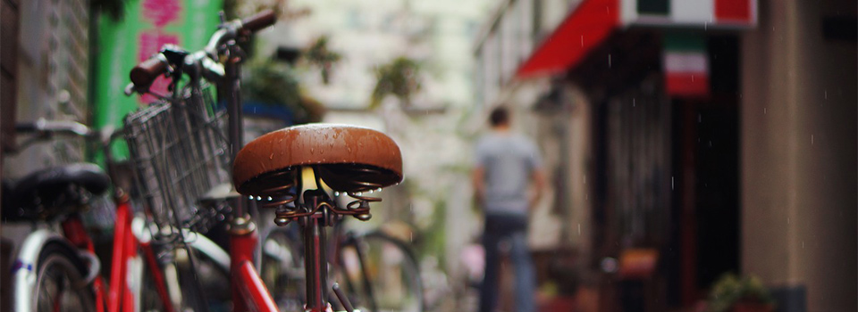
M 371 129 L 347 126 L 289 127 L 263 135 L 242 149 L 240 63 L 244 53 L 238 42 L 251 32 L 271 23 L 273 14 L 270 12 L 242 22 L 223 22 L 204 50 L 190 53 L 181 48 L 167 46 L 156 57 L 139 64 L 131 71 L 133 85 L 128 88 L 129 93 L 148 93 L 148 86 L 156 78 L 162 75 L 172 78 L 172 94 L 156 94 L 171 107 L 163 111 L 187 107 L 188 103 L 205 102 L 203 81 L 214 82 L 218 86 L 219 100 L 225 106 L 228 118 L 228 135 L 225 135 L 230 146 L 228 152 L 221 153 L 217 148 L 202 152 L 194 149 L 168 151 L 175 145 L 169 144 L 171 136 L 183 136 L 188 128 L 195 128 L 193 125 L 168 127 L 167 130 L 156 130 L 155 134 L 141 132 L 139 137 L 142 141 L 150 143 L 130 143 L 137 146 L 132 148 L 131 152 L 136 155 L 136 159 L 147 161 L 145 166 L 139 166 L 138 171 L 141 176 L 145 176 L 139 185 L 147 187 L 143 193 L 148 194 L 147 198 L 152 200 L 151 207 L 165 208 L 160 212 L 155 211 L 156 214 L 161 214 L 156 218 L 161 221 L 156 223 L 163 223 L 163 228 L 182 228 L 193 224 L 192 216 L 196 213 L 182 209 L 189 207 L 188 203 L 198 197 L 198 188 L 188 188 L 185 183 L 176 182 L 183 177 L 195 176 L 185 168 L 218 168 L 219 164 L 230 163 L 229 160 L 218 161 L 221 155 L 234 156 L 231 161 L 232 182 L 235 189 L 247 197 L 236 197 L 231 192 L 211 196 L 228 201 L 231 207 L 230 258 L 234 310 L 277 310 L 254 265 L 257 226 L 252 221 L 248 208 L 249 205 L 257 205 L 275 209 L 277 217 L 274 218 L 274 223 L 278 226 L 285 226 L 290 222 L 299 224 L 304 236 L 302 247 L 305 282 L 305 303 L 300 309 L 328 311 L 332 306 L 328 303 L 330 297 L 325 256 L 326 227 L 333 226 L 343 216 L 353 216 L 361 220 L 370 218 L 370 202 L 380 199 L 366 196 L 364 193 L 399 183 L 402 178 L 401 156 L 399 147 L 390 137 Z M 182 75 L 188 79 L 182 80 Z M 184 86 L 180 86 L 182 81 L 186 82 Z M 206 112 L 208 111 L 191 109 L 187 114 Z M 152 111 L 152 117 L 145 119 L 159 119 L 155 116 L 161 114 L 166 113 Z M 160 119 L 164 119 L 169 125 L 174 118 Z M 208 127 L 205 126 L 207 123 L 203 124 L 202 127 Z M 207 140 L 205 136 L 193 137 L 198 137 L 201 141 Z M 153 146 L 162 148 L 152 149 Z M 214 160 L 214 165 L 208 163 L 210 159 Z M 211 169 L 202 171 L 216 172 Z M 353 201 L 340 205 L 332 200 L 332 193 L 349 194 Z M 186 194 L 190 194 L 188 200 L 175 198 Z M 181 204 L 182 201 L 184 204 Z M 172 234 L 181 235 L 182 232 Z M 178 241 L 182 241 L 181 237 Z M 348 244 L 357 245 L 357 242 L 346 242 L 345 245 Z M 362 273 L 370 276 L 368 268 Z M 368 279 L 365 277 L 364 280 Z M 411 283 L 413 281 L 419 281 L 419 278 L 409 280 Z M 359 291 L 357 286 L 349 288 Z M 336 284 L 332 289 L 345 310 L 355 310 L 349 298 Z M 369 289 L 365 287 L 363 291 Z

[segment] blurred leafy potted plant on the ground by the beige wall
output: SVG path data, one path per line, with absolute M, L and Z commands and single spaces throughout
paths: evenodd
M 754 276 L 721 276 L 709 293 L 708 312 L 772 312 L 769 290 Z

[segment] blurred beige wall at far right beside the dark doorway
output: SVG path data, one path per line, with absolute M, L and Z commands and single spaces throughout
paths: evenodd
M 855 9 L 760 0 L 742 42 L 742 267 L 809 311 L 856 308 L 856 46 L 821 24 Z

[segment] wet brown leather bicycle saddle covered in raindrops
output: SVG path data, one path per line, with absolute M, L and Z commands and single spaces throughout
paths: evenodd
M 265 196 L 315 166 L 340 192 L 364 192 L 402 181 L 399 146 L 366 127 L 312 124 L 259 136 L 235 157 L 232 180 L 239 193 Z

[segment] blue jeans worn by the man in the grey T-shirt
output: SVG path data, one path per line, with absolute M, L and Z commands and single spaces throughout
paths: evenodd
M 480 289 L 480 312 L 494 312 L 498 304 L 501 242 L 512 245 L 509 258 L 516 274 L 516 310 L 533 312 L 536 277 L 534 264 L 527 248 L 527 217 L 515 215 L 487 215 L 483 247 L 485 249 L 485 274 Z

